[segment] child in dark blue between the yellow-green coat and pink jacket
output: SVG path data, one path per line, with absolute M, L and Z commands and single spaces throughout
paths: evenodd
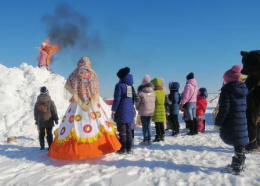
M 178 82 L 172 82 L 169 86 L 170 88 L 170 95 L 169 100 L 171 101 L 170 106 L 170 120 L 172 123 L 172 136 L 176 136 L 179 134 L 180 131 L 180 124 L 179 124 L 179 109 L 180 109 L 180 100 L 181 96 L 179 93 L 180 84 Z

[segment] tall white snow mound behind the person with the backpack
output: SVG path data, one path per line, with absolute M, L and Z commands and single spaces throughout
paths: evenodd
M 46 68 L 22 63 L 18 68 L 7 68 L 0 64 L 0 136 L 37 136 L 33 108 L 46 86 L 55 102 L 59 118 L 65 113 L 69 101 L 64 96 L 66 79 Z M 100 99 L 101 105 L 110 115 L 110 107 Z

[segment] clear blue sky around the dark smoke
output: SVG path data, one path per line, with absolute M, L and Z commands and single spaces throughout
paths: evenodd
M 48 36 L 41 21 L 66 2 L 89 19 L 102 50 L 75 48 L 55 54 L 53 71 L 68 77 L 81 56 L 99 75 L 101 96 L 113 95 L 118 69 L 129 66 L 138 86 L 145 74 L 181 83 L 194 72 L 199 87 L 217 92 L 223 73 L 241 64 L 241 50 L 259 49 L 260 1 L 253 0 L 1 0 L 0 62 L 37 66 L 35 49 Z

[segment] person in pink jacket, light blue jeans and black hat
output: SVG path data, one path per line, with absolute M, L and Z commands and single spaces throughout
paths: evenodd
M 188 135 L 195 135 L 198 134 L 198 123 L 196 119 L 197 81 L 192 72 L 186 76 L 186 79 L 180 110 L 185 110 L 188 117 L 187 124 L 190 128 Z

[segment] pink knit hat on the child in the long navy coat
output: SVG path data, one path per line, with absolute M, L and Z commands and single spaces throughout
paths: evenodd
M 226 83 L 241 81 L 241 70 L 240 65 L 235 65 L 231 69 L 225 72 L 223 78 Z

